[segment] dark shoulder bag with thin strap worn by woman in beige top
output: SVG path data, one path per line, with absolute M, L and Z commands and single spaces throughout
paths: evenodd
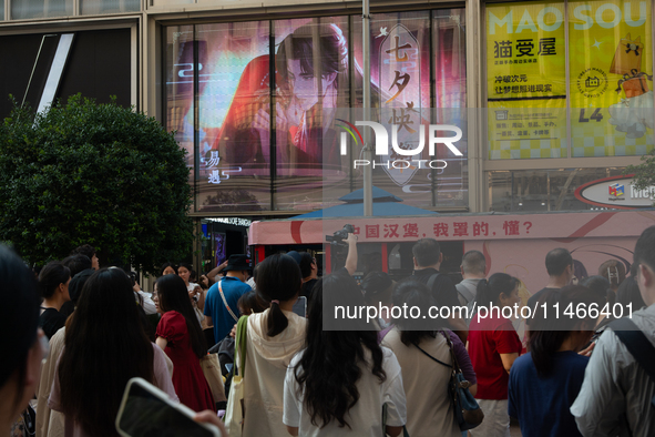
M 434 358 L 432 355 L 423 350 L 419 345 L 415 346 L 430 359 L 451 369 L 450 382 L 448 384 L 448 394 L 450 396 L 450 403 L 452 404 L 452 409 L 454 411 L 454 421 L 459 425 L 460 430 L 462 431 L 473 429 L 482 423 L 484 413 L 482 413 L 480 409 L 480 406 L 478 405 L 478 402 L 473 395 L 471 395 L 471 392 L 469 392 L 471 383 L 469 383 L 462 374 L 462 369 L 457 362 L 457 357 L 454 355 L 452 343 L 448 336 L 448 333 L 442 332 L 441 334 L 443 334 L 446 337 L 446 343 L 450 348 L 452 365 L 446 364 Z

